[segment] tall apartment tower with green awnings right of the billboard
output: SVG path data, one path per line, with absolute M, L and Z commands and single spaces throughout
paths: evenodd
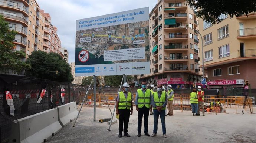
M 158 0 L 149 29 L 150 74 L 137 78 L 173 88 L 201 85 L 196 11 L 184 0 Z

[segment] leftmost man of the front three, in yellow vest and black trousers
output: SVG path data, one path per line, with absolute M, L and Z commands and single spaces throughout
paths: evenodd
M 132 107 L 132 94 L 128 92 L 129 84 L 125 82 L 123 84 L 123 91 L 118 92 L 116 97 L 116 115 L 119 115 L 119 135 L 118 137 L 122 137 L 122 132 L 124 131 L 124 136 L 131 137 L 128 134 L 128 123 L 130 119 L 130 115 L 132 115 L 133 107 Z M 123 127 L 124 124 L 124 127 Z

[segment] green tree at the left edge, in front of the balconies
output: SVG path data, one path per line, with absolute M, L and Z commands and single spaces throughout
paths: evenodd
M 9 68 L 19 74 L 31 67 L 20 59 L 26 57 L 26 53 L 15 50 L 13 40 L 16 34 L 16 31 L 9 30 L 8 23 L 0 15 L 0 69 Z

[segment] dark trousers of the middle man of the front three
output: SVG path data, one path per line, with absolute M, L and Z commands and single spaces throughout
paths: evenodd
M 146 106 L 139 108 L 139 111 L 138 111 L 138 133 L 141 133 L 141 123 L 142 123 L 143 115 L 144 115 L 144 133 L 148 133 L 149 108 L 147 108 Z

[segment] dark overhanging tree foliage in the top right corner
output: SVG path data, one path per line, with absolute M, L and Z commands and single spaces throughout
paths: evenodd
M 255 0 L 186 0 L 197 9 L 197 17 L 212 24 L 219 23 L 221 14 L 228 14 L 230 18 L 239 17 L 256 11 Z

